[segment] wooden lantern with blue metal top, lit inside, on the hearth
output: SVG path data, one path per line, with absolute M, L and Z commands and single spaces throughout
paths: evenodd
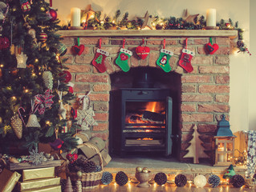
M 217 124 L 217 134 L 214 137 L 213 149 L 215 149 L 215 163 L 213 166 L 230 166 L 234 162 L 234 138 L 230 130 L 230 122 L 226 116 L 221 115 L 221 121 Z

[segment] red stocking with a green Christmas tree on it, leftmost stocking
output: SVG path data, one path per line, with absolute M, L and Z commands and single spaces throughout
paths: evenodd
M 100 38 L 100 49 L 96 50 L 95 58 L 92 60 L 92 65 L 96 67 L 96 69 L 100 73 L 104 73 L 107 68 L 105 66 L 105 58 L 107 58 L 109 53 L 105 50 L 101 50 L 101 38 Z

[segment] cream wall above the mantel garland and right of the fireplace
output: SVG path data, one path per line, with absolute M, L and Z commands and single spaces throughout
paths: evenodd
M 250 7 L 250 2 L 254 6 Z M 217 9 L 217 21 L 221 18 L 234 22 L 238 21 L 239 26 L 245 29 L 244 40 L 250 46 L 250 8 L 254 18 L 256 2 L 254 0 L 54 0 L 53 7 L 57 8 L 59 19 L 67 24 L 70 20 L 70 9 L 77 6 L 84 10 L 91 4 L 92 10 L 101 10 L 102 14 L 113 16 L 116 10 L 121 14 L 126 11 L 129 19 L 143 17 L 148 10 L 149 14 L 159 15 L 164 18 L 174 16 L 180 18 L 185 9 L 189 9 L 190 14 L 203 14 L 209 8 Z M 256 31 L 256 26 L 254 26 Z M 252 36 L 251 36 L 252 38 Z M 255 41 L 254 41 L 255 42 Z M 256 50 L 255 47 L 254 50 Z M 254 52 L 253 49 L 250 50 Z M 256 51 L 255 51 L 256 54 Z M 252 57 L 252 56 L 251 56 Z M 252 57 L 253 58 L 253 57 Z M 254 88 L 253 83 L 256 77 L 256 64 L 250 63 L 248 54 L 234 54 L 230 56 L 230 125 L 231 129 L 238 130 L 254 129 L 256 124 L 256 107 L 254 106 L 254 93 L 250 92 Z M 250 83 L 251 82 L 251 83 Z M 255 124 L 255 126 L 254 126 Z M 250 127 L 249 127 L 250 126 Z

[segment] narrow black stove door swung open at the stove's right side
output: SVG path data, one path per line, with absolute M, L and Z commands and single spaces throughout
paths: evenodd
M 172 154 L 172 146 L 173 146 L 173 141 L 172 141 L 172 118 L 173 118 L 173 98 L 167 97 L 166 98 L 166 142 L 165 142 L 165 155 L 168 156 Z

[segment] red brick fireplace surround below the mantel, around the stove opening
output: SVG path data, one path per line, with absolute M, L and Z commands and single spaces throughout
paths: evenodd
M 189 74 L 177 64 L 181 57 L 181 50 L 185 46 L 185 37 L 173 37 L 172 35 L 165 35 L 165 37 L 155 37 L 156 35 L 113 37 L 105 34 L 102 36 L 100 34 L 95 35 L 96 37 L 93 35 L 84 37 L 79 36 L 79 34 L 75 37 L 74 34 L 67 36 L 63 34 L 63 36 L 63 43 L 67 46 L 67 54 L 63 56 L 63 58 L 67 58 L 64 66 L 67 66 L 72 74 L 72 82 L 75 83 L 74 92 L 84 94 L 84 92 L 91 90 L 89 97 L 95 110 L 95 120 L 99 124 L 93 126 L 91 132 L 93 135 L 103 138 L 107 143 L 106 146 L 109 143 L 109 93 L 116 89 L 111 76 L 121 71 L 120 67 L 116 66 L 115 59 L 120 47 L 122 47 L 123 38 L 126 39 L 125 48 L 132 50 L 133 53 L 128 61 L 131 69 L 144 67 L 145 69 L 157 68 L 158 70 L 161 68 L 156 66 L 156 60 L 162 48 L 162 40 L 165 38 L 165 49 L 174 53 L 169 60 L 173 70 L 169 74 L 164 71 L 162 73 L 169 78 L 172 78 L 173 75 L 179 76 L 181 81 L 179 116 L 177 117 L 179 123 L 173 128 L 178 130 L 177 133 L 181 138 L 180 153 L 178 153 L 177 158 L 182 162 L 189 161 L 189 158 L 183 158 L 183 156 L 187 153 L 186 149 L 192 138 L 194 125 L 197 126 L 205 153 L 209 156 L 212 155 L 211 138 L 215 134 L 217 120 L 220 120 L 221 114 L 226 114 L 229 117 L 230 112 L 230 37 L 223 35 L 213 38 L 213 42 L 219 45 L 219 50 L 213 55 L 205 53 L 204 47 L 209 42 L 209 36 L 189 37 L 188 49 L 196 53 L 192 59 L 193 72 Z M 71 53 L 71 46 L 74 45 L 75 38 L 78 37 L 80 44 L 85 46 L 83 54 L 80 56 Z M 105 60 L 107 71 L 103 74 L 91 65 L 95 50 L 99 47 L 100 38 L 102 38 L 102 49 L 110 53 L 110 56 Z M 136 46 L 140 46 L 142 39 L 145 40 L 146 45 L 151 50 L 148 58 L 144 60 L 138 58 L 135 53 Z

